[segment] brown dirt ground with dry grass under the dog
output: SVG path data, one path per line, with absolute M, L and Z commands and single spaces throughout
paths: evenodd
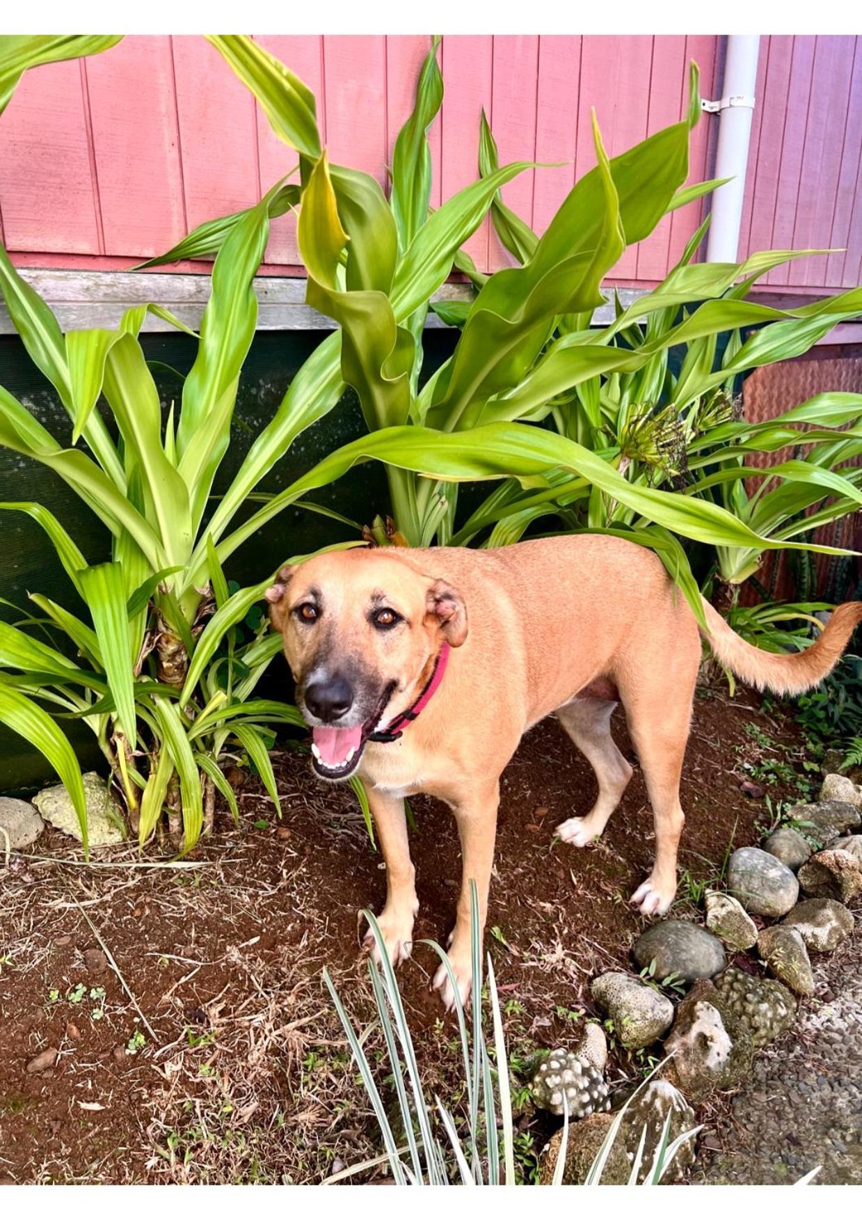
M 141 867 L 123 849 L 85 865 L 50 828 L 38 854 L 16 854 L 6 869 L 0 860 L 0 1181 L 319 1182 L 333 1166 L 379 1154 L 322 969 L 366 1026 L 357 911 L 379 909 L 384 866 L 351 792 L 317 783 L 305 745 L 288 745 L 276 758 L 280 821 L 248 777 L 240 825 L 222 811 L 187 867 Z M 773 820 L 763 798 L 740 789 L 745 764 L 796 766 L 795 780 L 783 772 L 764 783 L 774 810 L 800 799 L 803 759 L 801 734 L 780 711 L 718 684 L 699 689 L 682 869 L 714 878 L 730 844 L 756 842 L 756 824 Z M 573 1041 L 594 1013 L 590 978 L 623 966 L 644 926 L 627 902 L 652 854 L 638 770 L 599 847 L 578 852 L 554 839 L 594 793 L 589 765 L 552 721 L 524 738 L 504 777 L 488 947 L 516 1083 L 536 1048 Z M 435 802 L 417 799 L 413 810 L 416 937 L 445 943 L 457 836 Z M 684 878 L 674 913 L 690 911 L 693 898 Z M 87 965 L 85 950 L 99 943 L 85 916 L 116 971 Z M 428 991 L 434 965 L 433 952 L 417 947 L 401 988 L 429 1091 L 457 1108 L 457 1031 Z M 89 996 L 99 987 L 104 1000 Z M 382 1059 L 378 1032 L 367 1047 Z M 52 1070 L 26 1070 L 51 1048 Z M 608 1080 L 646 1064 L 619 1053 Z M 552 1126 L 524 1110 L 518 1128 L 529 1175 Z

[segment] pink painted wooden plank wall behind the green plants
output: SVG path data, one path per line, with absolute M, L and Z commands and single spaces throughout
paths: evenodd
M 428 46 L 413 35 L 256 35 L 313 89 L 334 161 L 385 181 Z M 590 106 L 611 154 L 680 117 L 686 65 L 717 95 L 721 39 L 706 35 L 446 37 L 446 95 L 432 133 L 434 198 L 477 176 L 488 112 L 501 160 L 567 161 L 522 174 L 506 201 L 541 231 L 594 163 Z M 743 248 L 847 245 L 772 281 L 816 290 L 862 273 L 862 40 L 763 39 Z M 718 120 L 693 138 L 691 181 L 708 176 Z M 16 261 L 123 267 L 212 216 L 260 198 L 294 163 L 218 54 L 193 37 L 128 37 L 87 61 L 30 72 L 0 120 L 0 232 Z M 625 253 L 621 283 L 660 279 L 701 218 L 682 209 Z M 485 223 L 468 243 L 483 268 L 506 261 Z M 744 253 L 744 250 L 743 250 Z M 297 261 L 291 217 L 273 223 L 268 270 Z

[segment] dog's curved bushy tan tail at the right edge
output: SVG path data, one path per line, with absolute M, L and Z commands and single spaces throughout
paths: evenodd
M 801 694 L 838 665 L 853 628 L 862 622 L 862 601 L 836 606 L 817 640 L 803 653 L 766 653 L 738 636 L 705 599 L 703 612 L 707 622 L 703 634 L 722 665 L 761 691 Z

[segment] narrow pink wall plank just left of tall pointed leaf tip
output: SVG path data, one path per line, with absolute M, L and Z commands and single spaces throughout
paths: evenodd
M 567 162 L 535 171 L 533 228 L 547 228 L 574 184 L 580 95 L 580 35 L 543 34 L 539 38 L 539 95 L 535 116 L 535 159 Z

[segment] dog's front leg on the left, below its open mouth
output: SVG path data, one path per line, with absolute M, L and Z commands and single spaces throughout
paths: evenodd
M 400 797 L 391 797 L 372 784 L 368 784 L 368 804 L 374 819 L 377 837 L 380 841 L 383 859 L 386 863 L 386 905 L 380 911 L 377 922 L 380 925 L 389 958 L 396 966 L 410 956 L 413 919 L 419 909 L 415 884 L 416 870 L 410 859 L 407 820 L 404 800 Z M 371 949 L 372 956 L 379 965 L 380 955 L 371 931 L 366 933 L 365 944 Z

